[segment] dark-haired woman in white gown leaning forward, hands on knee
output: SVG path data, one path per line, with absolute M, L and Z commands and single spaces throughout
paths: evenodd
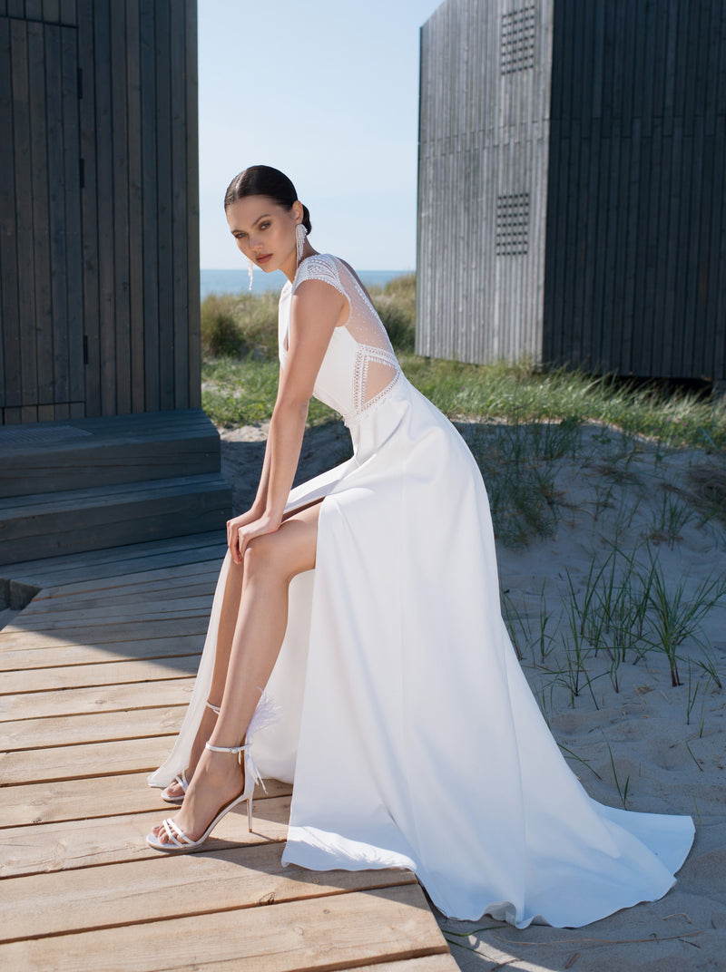
M 236 803 L 251 814 L 255 733 L 260 770 L 295 779 L 283 861 L 408 867 L 445 914 L 519 927 L 660 897 L 692 821 L 600 806 L 565 764 L 501 619 L 463 440 L 401 373 L 350 267 L 311 248 L 285 176 L 246 169 L 225 207 L 241 252 L 288 278 L 279 390 L 257 497 L 228 524 L 190 711 L 150 780 L 182 807 L 150 844 L 190 850 Z M 354 455 L 291 492 L 313 393 Z M 266 685 L 280 710 L 267 725 Z

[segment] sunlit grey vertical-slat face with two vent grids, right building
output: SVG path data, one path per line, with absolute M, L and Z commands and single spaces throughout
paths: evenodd
M 421 29 L 417 351 L 539 358 L 552 0 L 448 0 Z

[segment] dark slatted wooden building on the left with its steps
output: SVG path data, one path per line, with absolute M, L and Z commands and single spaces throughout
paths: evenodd
M 221 527 L 196 0 L 0 0 L 0 564 Z

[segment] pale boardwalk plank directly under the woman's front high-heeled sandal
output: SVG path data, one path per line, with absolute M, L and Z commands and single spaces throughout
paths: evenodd
M 103 782 L 96 780 L 96 786 L 102 786 Z M 159 851 L 152 851 L 146 835 L 173 812 L 173 807 L 159 799 L 158 809 L 149 813 L 7 827 L 0 830 L 0 877 L 68 871 L 129 860 L 158 861 Z M 241 809 L 236 807 L 220 820 L 201 852 L 284 841 L 289 818 L 289 797 L 256 800 L 252 833 L 249 833 L 246 804 Z M 0 968 L 3 967 L 0 957 Z

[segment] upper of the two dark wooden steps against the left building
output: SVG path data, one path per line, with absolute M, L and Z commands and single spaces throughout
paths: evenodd
M 200 408 L 0 428 L 0 497 L 219 472 L 219 435 Z

